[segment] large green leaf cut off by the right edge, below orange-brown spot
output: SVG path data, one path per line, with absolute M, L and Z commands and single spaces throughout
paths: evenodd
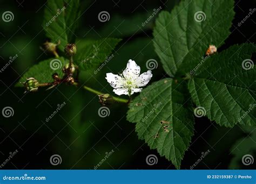
M 256 67 L 247 60 L 255 50 L 253 44 L 234 45 L 212 55 L 196 70 L 188 88 L 211 121 L 228 127 L 256 125 Z

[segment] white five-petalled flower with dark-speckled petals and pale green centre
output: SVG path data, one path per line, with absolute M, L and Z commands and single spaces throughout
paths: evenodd
M 114 93 L 117 95 L 132 95 L 142 91 L 143 86 L 149 83 L 152 74 L 151 70 L 140 74 L 140 67 L 135 61 L 129 60 L 123 74 L 114 75 L 112 73 L 106 74 L 106 80 L 110 86 L 114 88 Z

